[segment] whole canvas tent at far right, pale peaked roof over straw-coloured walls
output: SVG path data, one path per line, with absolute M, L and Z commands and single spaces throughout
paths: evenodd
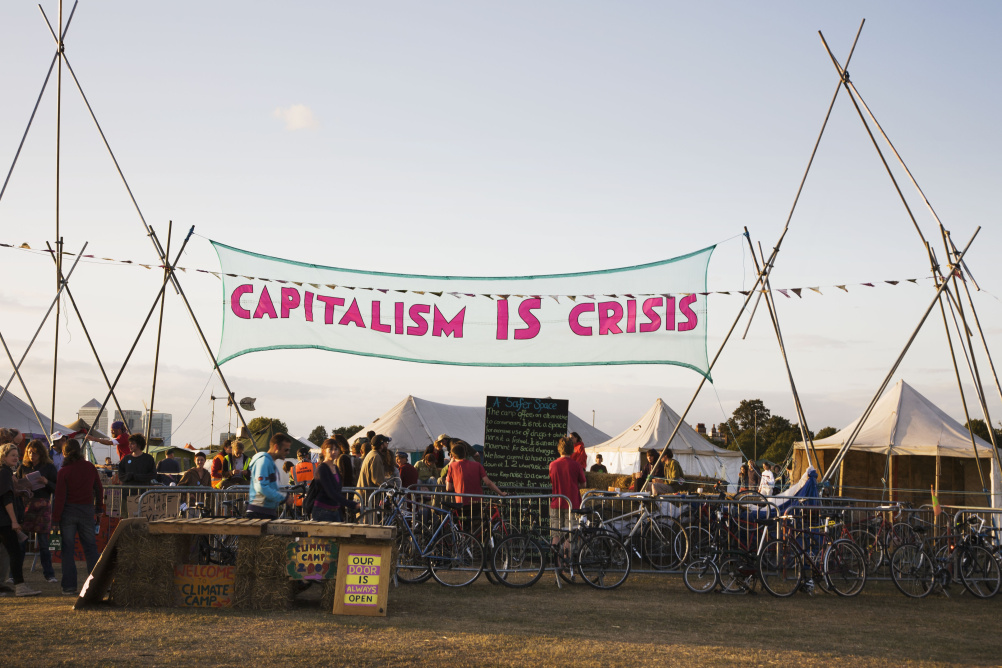
M 815 441 L 822 473 L 859 422 L 857 418 L 841 432 Z M 809 464 L 805 445 L 794 444 L 794 475 Z M 999 503 L 992 445 L 977 437 L 972 443 L 967 429 L 904 381 L 877 402 L 841 469 L 832 481 L 847 497 L 928 504 L 929 488 L 938 483 L 941 503 L 985 506 L 983 477 L 993 505 Z

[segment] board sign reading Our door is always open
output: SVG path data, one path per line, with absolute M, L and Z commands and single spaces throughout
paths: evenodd
M 342 545 L 340 551 L 334 614 L 386 617 L 393 546 Z

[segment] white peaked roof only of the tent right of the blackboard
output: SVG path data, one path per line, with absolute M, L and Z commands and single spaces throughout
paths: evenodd
M 668 442 L 672 430 L 680 418 L 672 411 L 664 400 L 658 399 L 640 418 L 639 421 L 622 434 L 604 443 L 591 446 L 588 453 L 637 452 L 638 450 L 661 450 Z M 695 433 L 695 430 L 684 422 L 678 428 L 671 442 L 671 452 L 675 455 L 712 455 L 720 458 L 734 457 L 740 459 L 741 454 L 733 450 L 717 448 L 706 439 Z

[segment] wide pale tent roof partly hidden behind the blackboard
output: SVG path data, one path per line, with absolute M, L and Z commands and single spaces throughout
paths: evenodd
M 486 423 L 485 406 L 454 406 L 408 396 L 348 441 L 351 443 L 372 430 L 393 439 L 390 448 L 394 451 L 420 452 L 440 434 L 448 434 L 471 445 L 482 444 Z M 609 438 L 572 413 L 567 416 L 567 431 L 577 432 L 584 443 L 597 443 Z

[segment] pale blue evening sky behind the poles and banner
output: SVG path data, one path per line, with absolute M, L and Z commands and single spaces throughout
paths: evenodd
M 57 5 L 44 7 L 55 20 Z M 778 238 L 835 90 L 818 30 L 844 60 L 866 18 L 850 73 L 958 243 L 983 226 L 969 259 L 991 343 L 1002 332 L 999 13 L 992 3 L 921 2 L 84 1 L 66 52 L 147 221 L 161 237 L 168 219 L 175 233 L 195 226 L 182 265 L 215 268 L 205 238 L 353 268 L 474 275 L 599 269 L 718 243 L 710 289 L 725 290 L 754 280 L 734 238 L 742 227 L 767 251 Z M 5 173 L 52 52 L 34 3 L 0 7 Z M 53 238 L 54 84 L 0 200 L 0 242 L 37 248 Z M 63 85 L 67 245 L 154 261 L 65 72 Z M 899 182 L 942 256 L 929 213 Z M 3 333 L 17 354 L 54 279 L 44 256 L 0 256 Z M 843 93 L 773 278 L 823 286 L 823 296 L 778 297 L 812 428 L 843 427 L 865 408 L 932 293 L 929 280 L 853 283 L 928 275 Z M 183 284 L 214 346 L 219 283 L 186 273 Z M 156 272 L 89 262 L 71 285 L 117 370 Z M 710 355 L 739 304 L 710 298 Z M 689 422 L 720 422 L 748 398 L 794 417 L 764 314 L 728 346 Z M 934 315 L 896 378 L 962 419 Z M 166 317 L 156 407 L 174 415 L 175 439 L 203 443 L 208 395 L 222 390 L 172 294 Z M 103 384 L 79 324 L 64 324 L 56 419 L 70 421 L 103 397 Z M 51 340 L 49 326 L 26 366 L 44 406 Z M 123 375 L 128 406 L 149 402 L 152 347 L 147 335 Z M 568 399 L 614 435 L 657 397 L 680 411 L 698 383 L 671 367 L 452 369 L 319 352 L 245 356 L 223 370 L 237 395 L 259 398 L 257 415 L 285 419 L 296 436 L 369 422 L 408 394 L 464 405 L 487 395 Z M 989 397 L 1002 419 L 997 393 Z

